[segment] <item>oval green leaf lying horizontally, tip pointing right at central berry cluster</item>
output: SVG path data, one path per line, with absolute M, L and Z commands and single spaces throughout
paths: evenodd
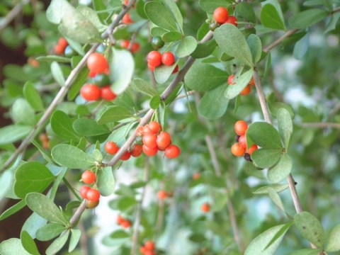
M 55 162 L 68 168 L 85 169 L 95 165 L 89 154 L 72 145 L 56 145 L 51 154 Z

